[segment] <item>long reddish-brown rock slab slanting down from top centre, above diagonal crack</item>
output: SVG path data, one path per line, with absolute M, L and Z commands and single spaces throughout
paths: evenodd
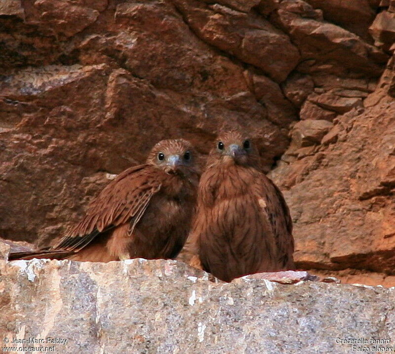
M 270 22 L 215 4 L 173 0 L 189 26 L 207 43 L 283 81 L 299 61 L 297 48 Z

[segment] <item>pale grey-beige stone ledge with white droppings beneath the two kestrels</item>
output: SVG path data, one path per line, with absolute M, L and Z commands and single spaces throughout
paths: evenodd
M 393 288 L 217 283 L 182 263 L 141 259 L 0 261 L 0 271 L 2 343 L 67 340 L 44 345 L 55 352 L 350 353 L 336 338 L 395 336 Z

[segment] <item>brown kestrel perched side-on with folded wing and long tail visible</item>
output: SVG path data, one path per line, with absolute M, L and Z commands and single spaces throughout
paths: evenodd
M 123 171 L 103 189 L 57 245 L 11 253 L 9 259 L 174 258 L 189 232 L 198 178 L 198 155 L 190 142 L 158 142 L 144 165 Z

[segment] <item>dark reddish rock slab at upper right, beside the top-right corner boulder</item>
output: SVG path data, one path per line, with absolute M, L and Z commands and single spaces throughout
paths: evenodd
M 314 16 L 314 9 L 304 1 L 281 1 L 271 16 L 300 50 L 302 59 L 315 59 L 305 70 L 313 73 L 322 70 L 341 74 L 342 69 L 364 71 L 366 75 L 378 75 L 378 64 L 387 56 L 375 46 L 357 35 Z

